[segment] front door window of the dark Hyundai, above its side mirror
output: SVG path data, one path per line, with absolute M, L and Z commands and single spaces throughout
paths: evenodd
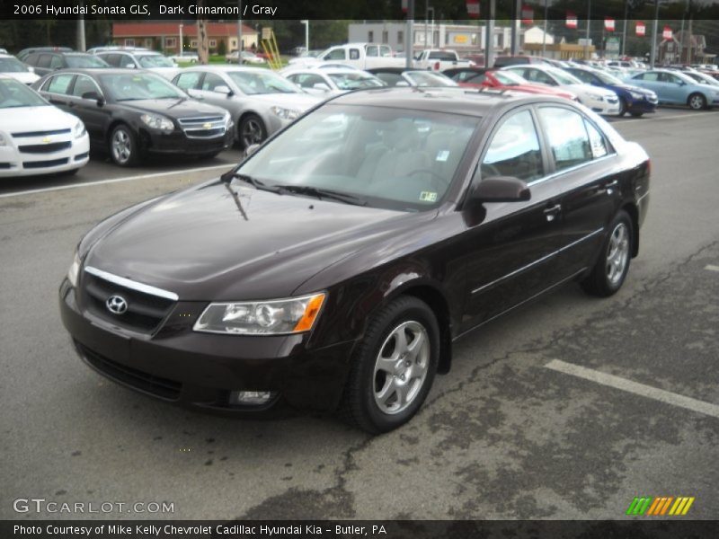
M 529 110 L 504 121 L 492 138 L 480 172 L 483 178 L 513 176 L 523 181 L 544 175 L 537 129 Z

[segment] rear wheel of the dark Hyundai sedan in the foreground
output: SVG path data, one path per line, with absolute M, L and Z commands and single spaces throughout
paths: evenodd
M 581 281 L 581 287 L 591 296 L 608 297 L 616 294 L 629 272 L 635 237 L 632 218 L 620 209 L 608 230 L 599 260 L 590 275 Z

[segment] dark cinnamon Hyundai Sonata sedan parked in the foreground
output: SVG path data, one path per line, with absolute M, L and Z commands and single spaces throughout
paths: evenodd
M 567 281 L 617 292 L 649 172 L 566 100 L 345 94 L 223 177 L 93 228 L 63 321 L 88 365 L 166 401 L 395 429 L 466 332 Z

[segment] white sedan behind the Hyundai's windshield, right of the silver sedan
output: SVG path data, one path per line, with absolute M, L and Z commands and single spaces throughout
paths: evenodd
M 386 85 L 375 75 L 351 67 L 334 67 L 332 69 L 288 67 L 280 73 L 306 93 L 314 95 L 336 95 L 352 90 L 379 88 Z

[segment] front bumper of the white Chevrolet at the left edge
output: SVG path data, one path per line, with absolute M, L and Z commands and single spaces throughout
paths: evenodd
M 0 146 L 0 178 L 67 172 L 84 167 L 90 158 L 90 141 L 86 133 L 80 138 L 73 138 L 71 134 L 53 137 L 51 142 L 40 136 L 7 139 L 8 144 Z M 53 145 L 67 147 L 54 151 L 56 146 Z

